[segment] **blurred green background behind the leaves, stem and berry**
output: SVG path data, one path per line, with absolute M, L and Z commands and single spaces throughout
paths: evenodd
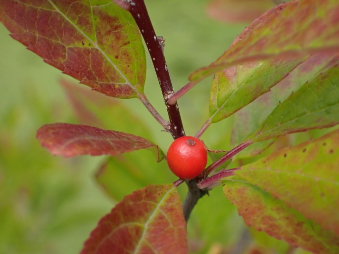
M 211 19 L 205 11 L 206 0 L 145 2 L 157 35 L 166 39 L 165 55 L 175 90 L 188 82 L 192 71 L 218 58 L 248 25 Z M 51 156 L 35 138 L 36 130 L 47 123 L 81 123 L 60 85 L 61 78 L 77 81 L 11 39 L 2 25 L 0 43 L 0 254 L 79 253 L 97 221 L 115 202 L 147 184 L 171 183 L 176 177 L 165 162 L 156 164 L 148 151 L 112 158 L 104 174 L 111 177 L 108 181 L 116 182 L 112 198 L 95 177 L 107 157 Z M 208 116 L 210 83 L 211 78 L 179 100 L 187 135 L 194 135 Z M 145 94 L 167 119 L 150 61 Z M 161 131 L 137 99 L 112 101 L 121 103 L 123 113 L 112 113 L 108 104 L 94 109 L 106 128 L 144 133 L 167 151 L 172 137 Z M 232 118 L 210 127 L 202 137 L 206 145 L 229 149 L 231 122 Z M 179 190 L 184 198 L 186 186 Z M 244 226 L 221 188 L 216 188 L 198 202 L 188 228 L 192 253 L 212 253 L 236 244 Z

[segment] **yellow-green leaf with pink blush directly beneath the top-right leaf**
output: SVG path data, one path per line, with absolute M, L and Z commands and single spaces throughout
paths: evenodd
M 231 116 L 284 79 L 304 59 L 280 57 L 244 63 L 215 74 L 209 102 L 211 123 Z

